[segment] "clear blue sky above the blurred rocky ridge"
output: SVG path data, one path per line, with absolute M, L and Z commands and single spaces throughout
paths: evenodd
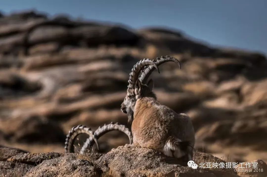
M 0 11 L 5 14 L 29 9 L 122 23 L 131 28 L 169 27 L 211 45 L 267 54 L 266 0 L 0 1 Z

